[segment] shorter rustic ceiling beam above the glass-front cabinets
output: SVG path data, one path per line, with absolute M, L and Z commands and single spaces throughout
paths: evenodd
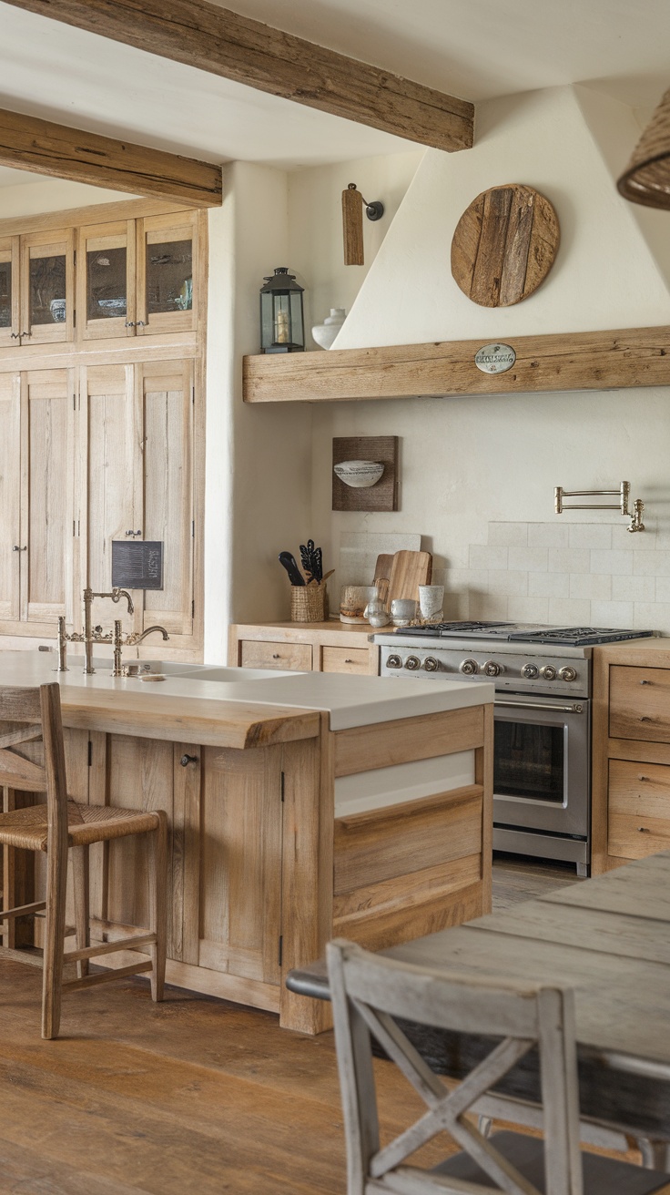
M 0 109 L 0 165 L 213 208 L 221 166 Z

